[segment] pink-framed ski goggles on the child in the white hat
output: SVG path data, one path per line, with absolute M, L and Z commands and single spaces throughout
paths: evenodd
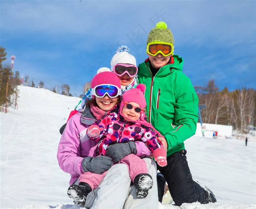
M 133 64 L 115 64 L 111 70 L 118 76 L 127 73 L 130 77 L 134 77 L 138 73 L 138 67 Z

